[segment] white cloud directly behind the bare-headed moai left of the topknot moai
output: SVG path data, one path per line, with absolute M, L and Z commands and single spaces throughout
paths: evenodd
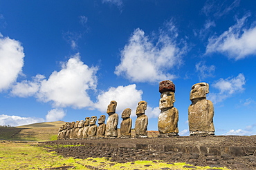
M 107 92 L 102 92 L 98 95 L 98 102 L 95 103 L 94 107 L 106 113 L 107 106 L 111 100 L 116 100 L 118 103 L 116 107 L 116 113 L 121 114 L 126 108 L 131 108 L 131 116 L 135 116 L 136 107 L 138 102 L 142 100 L 142 90 L 136 89 L 136 85 L 110 87 Z

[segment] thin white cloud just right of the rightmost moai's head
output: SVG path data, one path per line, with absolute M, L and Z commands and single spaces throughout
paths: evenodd
M 234 78 L 220 78 L 218 81 L 212 84 L 212 87 L 219 89 L 219 93 L 210 93 L 208 98 L 209 100 L 212 100 L 213 103 L 219 103 L 233 94 L 243 92 L 243 86 L 245 84 L 246 79 L 244 74 L 238 74 L 238 76 Z

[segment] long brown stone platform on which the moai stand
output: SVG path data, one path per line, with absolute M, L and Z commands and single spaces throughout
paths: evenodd
M 256 136 L 178 136 L 55 140 L 46 145 L 82 145 L 57 153 L 76 158 L 109 157 L 113 161 L 163 160 L 194 165 L 256 169 Z

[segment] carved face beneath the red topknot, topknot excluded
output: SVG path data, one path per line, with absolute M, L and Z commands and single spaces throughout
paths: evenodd
M 175 102 L 174 92 L 163 92 L 161 94 L 161 99 L 159 100 L 159 109 L 164 109 L 167 107 L 173 107 Z

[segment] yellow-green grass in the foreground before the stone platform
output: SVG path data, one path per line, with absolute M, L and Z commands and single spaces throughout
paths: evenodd
M 120 164 L 107 158 L 75 159 L 58 156 L 54 152 L 28 143 L 0 142 L 1 169 L 87 169 L 86 166 L 104 169 L 185 169 L 185 163 L 167 164 L 162 161 L 135 161 Z M 196 167 L 210 169 L 210 167 Z M 223 168 L 219 168 L 223 169 Z

